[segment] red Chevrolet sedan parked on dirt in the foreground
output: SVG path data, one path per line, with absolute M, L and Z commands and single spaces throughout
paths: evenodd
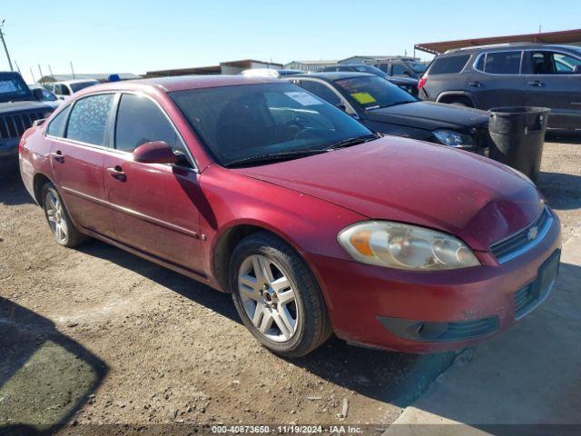
M 296 357 L 335 332 L 405 352 L 506 329 L 556 278 L 560 225 L 484 157 L 382 137 L 273 79 L 97 85 L 20 143 L 54 239 L 91 236 L 231 292 Z

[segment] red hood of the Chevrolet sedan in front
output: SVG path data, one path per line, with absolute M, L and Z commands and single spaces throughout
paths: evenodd
M 543 207 L 537 188 L 505 165 L 398 137 L 231 171 L 369 219 L 452 233 L 480 251 L 526 227 Z

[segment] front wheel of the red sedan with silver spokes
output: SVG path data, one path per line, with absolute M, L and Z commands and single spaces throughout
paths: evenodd
M 236 310 L 264 347 L 296 358 L 329 339 L 332 330 L 319 284 L 290 245 L 271 233 L 253 233 L 236 246 L 230 264 Z

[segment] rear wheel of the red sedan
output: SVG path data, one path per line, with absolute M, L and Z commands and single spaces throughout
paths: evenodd
M 43 209 L 54 240 L 65 247 L 73 248 L 86 239 L 74 226 L 66 206 L 53 183 L 47 182 L 43 186 Z

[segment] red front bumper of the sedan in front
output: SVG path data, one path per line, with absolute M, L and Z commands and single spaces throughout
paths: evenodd
M 311 262 L 341 339 L 399 352 L 440 352 L 502 332 L 531 312 L 550 290 L 539 271 L 547 271 L 547 263 L 558 265 L 560 246 L 555 216 L 542 241 L 501 265 L 490 253 L 478 253 L 480 266 L 441 272 L 325 256 Z M 543 286 L 536 284 L 543 280 Z

